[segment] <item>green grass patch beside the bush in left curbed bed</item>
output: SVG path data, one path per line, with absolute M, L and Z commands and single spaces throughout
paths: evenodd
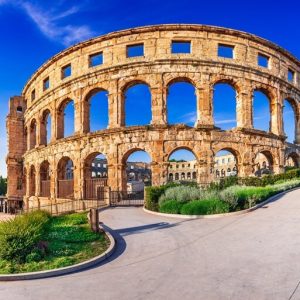
M 50 217 L 49 225 L 24 263 L 0 260 L 0 273 L 21 273 L 70 266 L 100 255 L 109 246 L 103 233 L 90 230 L 86 213 Z

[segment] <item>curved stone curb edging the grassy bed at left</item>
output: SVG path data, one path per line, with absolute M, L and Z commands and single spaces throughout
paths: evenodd
M 93 257 L 92 259 L 89 259 L 87 261 L 83 261 L 79 264 L 64 267 L 64 268 L 58 268 L 58 269 L 52 269 L 52 270 L 47 270 L 47 271 L 39 271 L 39 272 L 28 272 L 28 273 L 19 273 L 19 274 L 5 274 L 5 275 L 0 275 L 0 281 L 17 281 L 17 280 L 30 280 L 30 279 L 41 279 L 41 278 L 47 278 L 47 277 L 53 277 L 53 276 L 60 276 L 60 275 L 66 275 L 69 273 L 74 273 L 78 271 L 82 271 L 84 269 L 93 267 L 100 262 L 106 260 L 108 257 L 110 257 L 113 252 L 116 249 L 116 241 L 115 238 L 113 237 L 113 234 L 105 231 L 103 227 L 100 226 L 100 229 L 104 231 L 106 236 L 108 237 L 110 241 L 110 245 L 108 249 L 96 256 Z

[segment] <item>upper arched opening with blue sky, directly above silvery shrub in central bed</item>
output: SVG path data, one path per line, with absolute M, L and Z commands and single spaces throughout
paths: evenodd
M 175 80 L 168 86 L 168 124 L 194 126 L 197 120 L 197 97 L 193 84 L 187 80 Z

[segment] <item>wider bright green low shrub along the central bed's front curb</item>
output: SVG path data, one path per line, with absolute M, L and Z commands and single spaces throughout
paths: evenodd
M 181 208 L 183 215 L 210 215 L 229 212 L 229 205 L 220 200 L 195 200 L 184 204 Z

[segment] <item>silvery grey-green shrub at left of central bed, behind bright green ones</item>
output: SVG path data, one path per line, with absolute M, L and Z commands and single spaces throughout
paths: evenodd
M 178 202 L 188 202 L 201 198 L 201 190 L 192 186 L 176 186 L 168 188 L 159 198 L 159 204 L 168 200 L 176 200 Z

